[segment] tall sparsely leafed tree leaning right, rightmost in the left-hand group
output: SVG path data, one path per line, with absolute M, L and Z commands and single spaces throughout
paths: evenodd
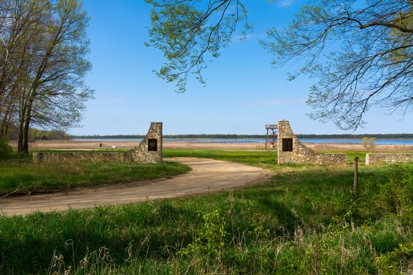
M 52 21 L 47 25 L 39 51 L 36 74 L 30 82 L 28 107 L 23 129 L 23 152 L 28 151 L 30 122 L 52 126 L 76 125 L 85 101 L 93 90 L 84 83 L 92 65 L 87 61 L 89 18 L 78 0 L 59 0 L 52 5 Z

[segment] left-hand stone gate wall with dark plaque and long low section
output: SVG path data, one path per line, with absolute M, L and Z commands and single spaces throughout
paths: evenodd
M 162 162 L 162 122 L 151 122 L 145 138 L 122 153 L 33 153 L 33 162 Z

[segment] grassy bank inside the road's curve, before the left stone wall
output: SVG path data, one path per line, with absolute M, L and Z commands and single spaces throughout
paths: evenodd
M 14 191 L 43 192 L 67 188 L 159 179 L 187 173 L 182 164 L 56 162 L 34 164 L 31 157 L 0 159 L 0 195 Z

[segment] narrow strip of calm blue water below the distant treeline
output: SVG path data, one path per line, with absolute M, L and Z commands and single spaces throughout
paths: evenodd
M 140 142 L 141 138 L 89 138 L 89 139 L 75 139 L 83 140 L 90 142 Z M 352 140 L 352 139 L 334 139 L 334 138 L 302 138 L 301 142 L 306 143 L 337 143 L 337 144 L 360 144 L 361 140 Z M 207 143 L 264 143 L 265 139 L 260 138 L 229 138 L 229 139 L 220 139 L 220 138 L 197 138 L 197 139 L 171 139 L 164 138 L 164 142 L 207 142 Z M 413 140 L 376 140 L 375 142 L 378 145 L 413 145 Z

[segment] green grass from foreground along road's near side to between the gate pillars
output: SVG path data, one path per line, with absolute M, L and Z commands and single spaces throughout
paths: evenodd
M 274 166 L 276 155 L 264 153 L 164 156 Z M 0 217 L 0 273 L 412 272 L 413 164 L 361 166 L 357 196 L 350 165 L 275 169 L 233 192 Z

